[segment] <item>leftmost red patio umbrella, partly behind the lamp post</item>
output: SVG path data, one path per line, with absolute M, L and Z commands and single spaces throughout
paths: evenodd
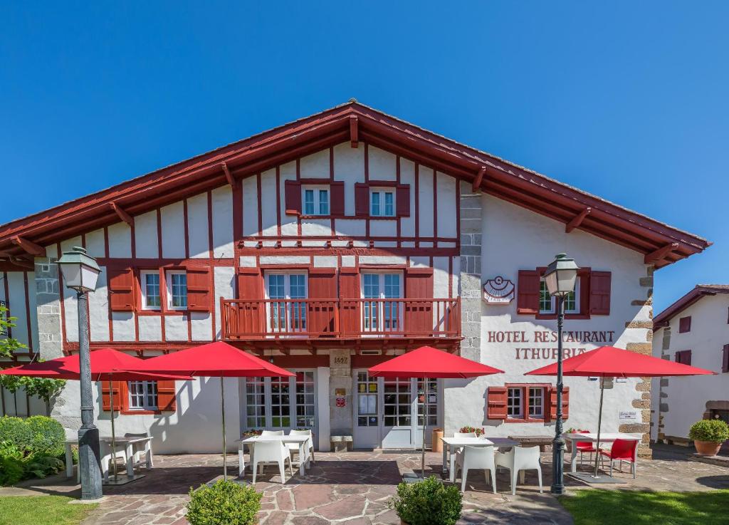
M 155 381 L 157 379 L 190 379 L 190 376 L 170 376 L 168 374 L 152 374 L 128 372 L 125 369 L 135 368 L 144 362 L 139 357 L 125 354 L 122 351 L 103 348 L 94 350 L 90 354 L 91 381 L 109 381 L 109 402 L 111 404 L 112 421 L 112 451 L 117 452 L 117 437 L 114 432 L 114 389 L 112 381 Z M 79 381 L 81 372 L 79 355 L 58 357 L 42 362 L 32 362 L 27 365 L 1 370 L 4 376 L 30 376 L 49 379 L 69 379 Z M 117 463 L 112 462 L 114 482 L 117 481 Z

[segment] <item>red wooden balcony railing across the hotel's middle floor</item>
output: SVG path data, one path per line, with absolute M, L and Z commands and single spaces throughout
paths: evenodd
M 220 300 L 222 338 L 459 338 L 461 300 Z

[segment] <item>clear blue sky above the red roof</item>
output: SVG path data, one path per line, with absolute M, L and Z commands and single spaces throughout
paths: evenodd
M 5 2 L 0 223 L 355 97 L 714 241 L 657 311 L 729 282 L 728 2 L 443 5 Z

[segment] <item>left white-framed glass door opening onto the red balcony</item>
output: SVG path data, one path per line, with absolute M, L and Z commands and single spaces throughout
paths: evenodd
M 297 301 L 308 296 L 306 273 L 266 273 L 268 303 L 268 329 L 273 332 L 300 332 L 306 330 L 306 302 Z

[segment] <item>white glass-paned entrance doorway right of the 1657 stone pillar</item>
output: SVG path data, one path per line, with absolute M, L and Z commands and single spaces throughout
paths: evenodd
M 425 419 L 430 428 L 440 423 L 437 379 L 373 378 L 367 370 L 353 376 L 354 448 L 418 448 Z

